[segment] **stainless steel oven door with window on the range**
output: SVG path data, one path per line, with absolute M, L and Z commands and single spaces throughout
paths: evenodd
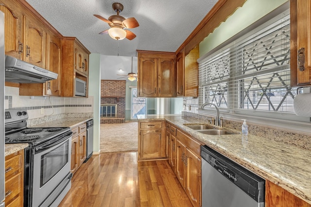
M 71 184 L 71 134 L 55 143 L 35 146 L 34 153 L 32 206 L 38 207 L 44 201 L 50 206 L 52 203 L 46 204 L 46 200 L 53 202 L 62 191 L 60 186 Z

